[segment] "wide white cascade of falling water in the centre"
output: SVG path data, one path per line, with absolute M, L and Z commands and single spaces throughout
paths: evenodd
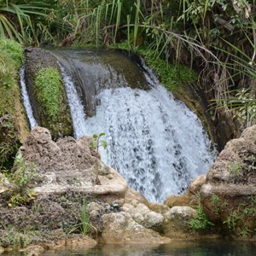
M 66 67 L 67 63 L 61 72 L 75 136 L 104 132 L 108 150 L 101 151 L 102 160 L 148 201 L 164 201 L 167 195 L 182 193 L 212 165 L 211 143 L 200 120 L 155 77 L 145 75 L 150 90 L 103 88 L 94 96 L 96 114 L 85 118 L 82 95 Z

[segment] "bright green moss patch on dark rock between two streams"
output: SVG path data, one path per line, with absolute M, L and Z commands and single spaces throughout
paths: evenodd
M 35 79 L 38 102 L 50 119 L 56 120 L 60 113 L 61 75 L 55 68 L 42 68 Z

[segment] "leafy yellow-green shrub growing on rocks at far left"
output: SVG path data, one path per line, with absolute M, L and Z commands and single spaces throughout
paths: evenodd
M 7 175 L 11 183 L 9 207 L 26 205 L 35 198 L 31 185 L 35 183 L 37 176 L 36 167 L 35 164 L 26 163 L 22 154 L 16 156 L 14 170 Z

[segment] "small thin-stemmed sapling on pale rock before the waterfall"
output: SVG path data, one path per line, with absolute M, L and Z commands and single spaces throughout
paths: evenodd
M 107 142 L 102 140 L 102 137 L 105 136 L 105 133 L 100 133 L 100 134 L 94 134 L 90 140 L 89 147 L 93 148 L 96 150 L 96 165 L 95 165 L 95 171 L 96 171 L 96 178 L 95 178 L 95 183 L 97 185 L 101 184 L 99 180 L 99 148 L 104 148 L 106 149 L 108 147 Z

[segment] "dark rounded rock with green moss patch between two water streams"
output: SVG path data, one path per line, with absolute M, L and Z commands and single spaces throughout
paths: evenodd
M 26 49 L 26 86 L 38 125 L 49 129 L 52 137 L 73 134 L 67 96 L 60 67 L 49 51 Z

